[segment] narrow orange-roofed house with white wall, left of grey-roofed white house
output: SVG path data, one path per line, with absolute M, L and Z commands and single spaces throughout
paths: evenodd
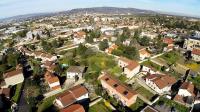
M 51 90 L 60 90 L 60 81 L 57 76 L 47 71 L 44 75 L 45 81 L 48 83 Z

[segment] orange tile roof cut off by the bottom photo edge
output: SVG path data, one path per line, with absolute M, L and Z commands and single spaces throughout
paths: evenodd
M 60 110 L 60 112 L 85 112 L 85 110 L 82 105 L 73 104 L 67 108 Z

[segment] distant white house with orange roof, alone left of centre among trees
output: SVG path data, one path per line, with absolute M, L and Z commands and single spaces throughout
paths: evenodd
M 80 44 L 84 43 L 86 38 L 86 33 L 84 31 L 78 31 L 74 33 L 74 43 Z

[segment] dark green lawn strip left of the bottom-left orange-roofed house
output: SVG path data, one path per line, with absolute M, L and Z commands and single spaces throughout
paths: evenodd
M 41 102 L 41 104 L 39 104 L 37 112 L 43 112 L 47 110 L 48 108 L 50 108 L 53 105 L 53 101 L 55 100 L 55 98 L 56 98 L 56 95 L 44 99 Z

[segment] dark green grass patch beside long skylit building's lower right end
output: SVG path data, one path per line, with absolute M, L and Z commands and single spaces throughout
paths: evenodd
M 140 98 L 137 98 L 136 102 L 133 105 L 130 106 L 130 109 L 132 111 L 139 112 L 145 106 L 146 106 L 146 104 L 144 103 L 144 101 L 142 101 Z

